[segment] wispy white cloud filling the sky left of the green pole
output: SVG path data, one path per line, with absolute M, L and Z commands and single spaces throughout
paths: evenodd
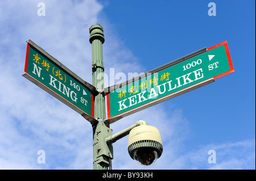
M 22 74 L 25 41 L 31 39 L 91 80 L 91 66 L 86 66 L 91 64 L 89 26 L 97 22 L 102 6 L 96 1 L 44 1 L 46 16 L 38 16 L 38 2 L 0 2 L 0 168 L 91 169 L 89 122 Z M 37 162 L 40 149 L 46 151 L 46 164 Z

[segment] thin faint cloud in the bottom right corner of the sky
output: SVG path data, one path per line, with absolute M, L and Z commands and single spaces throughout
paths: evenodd
M 208 162 L 209 150 L 216 152 L 216 163 Z M 183 161 L 183 169 L 255 169 L 255 140 L 203 145 L 188 151 Z

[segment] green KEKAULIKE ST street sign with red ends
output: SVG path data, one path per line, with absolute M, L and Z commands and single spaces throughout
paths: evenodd
M 110 123 L 207 85 L 234 71 L 226 41 L 205 48 L 205 52 L 196 56 L 179 60 L 110 90 L 107 94 Z

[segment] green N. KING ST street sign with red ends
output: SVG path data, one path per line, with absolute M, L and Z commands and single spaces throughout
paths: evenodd
M 92 122 L 95 87 L 50 56 L 31 40 L 27 41 L 23 76 Z

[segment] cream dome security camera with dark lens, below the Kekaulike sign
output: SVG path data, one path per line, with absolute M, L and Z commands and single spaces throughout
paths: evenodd
M 140 165 L 152 165 L 163 152 L 162 138 L 158 129 L 146 124 L 131 129 L 128 151 L 130 157 Z

